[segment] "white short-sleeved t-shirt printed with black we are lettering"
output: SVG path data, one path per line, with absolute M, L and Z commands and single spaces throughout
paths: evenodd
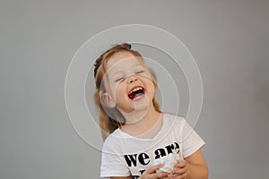
M 135 138 L 120 129 L 112 132 L 103 144 L 100 176 L 132 175 L 135 179 L 154 159 L 169 153 L 187 158 L 203 146 L 204 141 L 184 118 L 163 114 L 161 130 L 152 139 Z

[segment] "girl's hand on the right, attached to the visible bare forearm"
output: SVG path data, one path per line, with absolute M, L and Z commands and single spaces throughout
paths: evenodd
M 187 179 L 189 177 L 189 174 L 190 174 L 189 164 L 187 164 L 187 161 L 186 160 L 179 161 L 174 166 L 172 174 L 174 176 L 169 177 L 171 179 Z

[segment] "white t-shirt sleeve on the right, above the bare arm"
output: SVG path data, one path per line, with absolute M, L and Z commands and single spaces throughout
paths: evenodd
M 184 119 L 182 121 L 181 140 L 183 147 L 183 157 L 187 158 L 204 146 L 203 139 L 195 132 L 195 129 L 187 124 Z

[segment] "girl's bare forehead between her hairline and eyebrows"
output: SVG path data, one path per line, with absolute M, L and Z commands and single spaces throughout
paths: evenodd
M 142 57 L 134 56 L 128 51 L 119 51 L 108 58 L 107 70 L 114 71 L 118 68 L 127 68 L 134 65 L 145 65 Z

